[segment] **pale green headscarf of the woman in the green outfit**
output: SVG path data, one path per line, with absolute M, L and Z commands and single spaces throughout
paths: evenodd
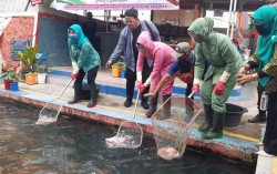
M 213 32 L 213 28 L 214 19 L 205 17 L 196 19 L 187 30 L 203 37 L 205 40 Z

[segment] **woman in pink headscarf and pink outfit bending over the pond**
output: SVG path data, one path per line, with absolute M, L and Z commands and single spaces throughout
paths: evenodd
M 153 42 L 151 35 L 147 31 L 144 31 L 140 34 L 136 41 L 136 48 L 138 50 L 138 58 L 136 64 L 136 79 L 137 79 L 137 89 L 142 93 L 151 84 L 151 91 L 154 91 L 161 81 L 161 79 L 166 74 L 171 64 L 175 60 L 171 54 L 174 50 L 162 42 Z M 150 78 L 142 84 L 142 70 L 144 59 L 147 58 L 154 61 L 153 71 L 150 74 Z M 161 90 L 163 95 L 163 102 L 165 102 L 172 94 L 173 83 L 175 75 L 165 83 Z M 157 98 L 150 100 L 150 110 L 145 113 L 146 116 L 152 116 L 156 112 Z

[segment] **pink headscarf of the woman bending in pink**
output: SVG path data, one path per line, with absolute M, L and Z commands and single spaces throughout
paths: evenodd
M 154 42 L 151 40 L 151 35 L 147 31 L 143 31 L 137 40 L 136 43 L 142 44 L 145 48 L 145 52 L 143 52 L 144 57 L 153 60 L 154 53 L 157 50 L 157 47 L 155 47 Z

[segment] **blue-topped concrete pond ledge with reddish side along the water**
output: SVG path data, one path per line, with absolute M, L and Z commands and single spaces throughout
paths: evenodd
M 23 91 L 12 92 L 6 91 L 0 88 L 0 96 L 12 99 L 19 102 L 34 104 L 39 106 L 44 106 L 47 102 L 53 100 L 53 98 L 39 95 L 35 93 L 29 93 Z M 94 120 L 110 125 L 120 125 L 122 121 L 132 120 L 132 114 L 127 112 L 116 111 L 116 108 L 92 108 L 88 109 L 84 104 L 68 104 L 65 100 L 58 100 L 55 104 L 62 104 L 62 113 L 74 115 L 81 119 Z M 142 129 L 153 134 L 151 120 L 143 116 L 136 116 L 137 123 L 141 124 Z M 201 149 L 217 153 L 230 158 L 236 158 L 244 162 L 253 163 L 256 161 L 255 152 L 257 152 L 258 146 L 256 141 L 247 141 L 230 136 L 227 132 L 224 132 L 224 137 L 222 140 L 203 140 L 201 133 L 197 131 L 198 125 L 194 125 L 191 135 L 187 140 L 187 145 L 195 149 Z

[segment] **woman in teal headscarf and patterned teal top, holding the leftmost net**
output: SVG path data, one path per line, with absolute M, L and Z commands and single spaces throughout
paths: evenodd
M 90 85 L 91 100 L 88 108 L 96 105 L 96 84 L 100 57 L 94 50 L 89 39 L 83 34 L 82 28 L 79 24 L 73 24 L 69 28 L 69 51 L 72 62 L 73 72 L 71 79 L 76 79 L 74 83 L 74 98 L 69 101 L 69 104 L 74 104 L 81 101 L 82 81 L 85 73 L 88 74 L 88 84 Z

